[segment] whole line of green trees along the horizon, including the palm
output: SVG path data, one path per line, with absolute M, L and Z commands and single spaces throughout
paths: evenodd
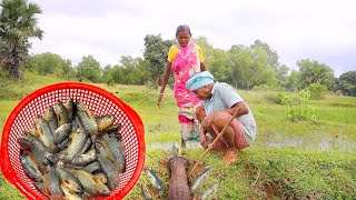
M 160 34 L 147 34 L 144 38 L 144 58 L 122 56 L 117 64 L 103 67 L 89 54 L 72 66 L 70 60 L 51 52 L 28 54 L 29 39 L 43 37 L 36 18 L 42 12 L 39 4 L 26 0 L 1 0 L 0 6 L 0 66 L 14 78 L 20 77 L 21 68 L 65 80 L 159 86 L 168 50 L 175 43 L 175 40 L 164 40 Z M 344 94 L 356 94 L 356 71 L 346 72 L 337 79 L 330 67 L 309 59 L 298 60 L 299 70 L 290 70 L 279 62 L 277 51 L 260 40 L 250 46 L 231 44 L 227 50 L 214 48 L 205 37 L 194 40 L 201 47 L 208 70 L 216 79 L 236 88 L 300 90 L 319 83 L 329 90 L 342 90 Z

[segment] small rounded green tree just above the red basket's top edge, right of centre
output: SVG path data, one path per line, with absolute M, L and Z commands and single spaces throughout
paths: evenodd
M 100 63 L 92 56 L 83 57 L 77 67 L 79 81 L 89 80 L 91 82 L 101 81 Z

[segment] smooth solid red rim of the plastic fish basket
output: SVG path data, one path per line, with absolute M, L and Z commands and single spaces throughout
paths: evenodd
M 93 84 L 83 83 L 83 82 L 59 82 L 49 84 L 46 87 L 42 87 L 40 89 L 34 90 L 27 97 L 24 97 L 20 102 L 12 109 L 10 112 L 3 129 L 2 129 L 2 136 L 1 136 L 1 143 L 0 143 L 0 162 L 2 163 L 0 166 L 0 173 L 6 178 L 8 182 L 10 182 L 12 186 L 14 186 L 22 194 L 24 194 L 28 199 L 37 199 L 38 197 L 34 197 L 34 194 L 30 191 L 27 191 L 23 186 L 21 184 L 20 179 L 16 176 L 13 169 L 11 168 L 11 164 L 4 164 L 10 163 L 9 158 L 9 150 L 8 147 L 3 147 L 4 141 L 9 140 L 9 132 L 12 127 L 12 122 L 16 120 L 18 114 L 21 112 L 21 110 L 33 99 L 36 99 L 39 96 L 42 96 L 44 93 L 48 93 L 53 90 L 60 90 L 60 89 L 83 89 L 88 91 L 96 92 L 100 96 L 103 96 L 105 98 L 112 101 L 115 104 L 120 107 L 121 109 L 125 109 L 127 112 L 127 117 L 130 121 L 132 121 L 134 130 L 138 133 L 138 162 L 137 168 L 134 171 L 134 174 L 127 186 L 122 188 L 122 190 L 119 193 L 111 194 L 110 197 L 107 197 L 106 199 L 122 199 L 137 183 L 141 171 L 144 169 L 145 164 L 145 154 L 146 154 L 146 147 L 145 147 L 145 127 L 142 123 L 141 118 L 139 114 L 128 104 L 126 104 L 123 101 L 121 101 L 118 97 L 113 96 L 112 93 L 108 92 L 107 90 L 99 88 Z M 101 199 L 101 198 L 97 198 Z

